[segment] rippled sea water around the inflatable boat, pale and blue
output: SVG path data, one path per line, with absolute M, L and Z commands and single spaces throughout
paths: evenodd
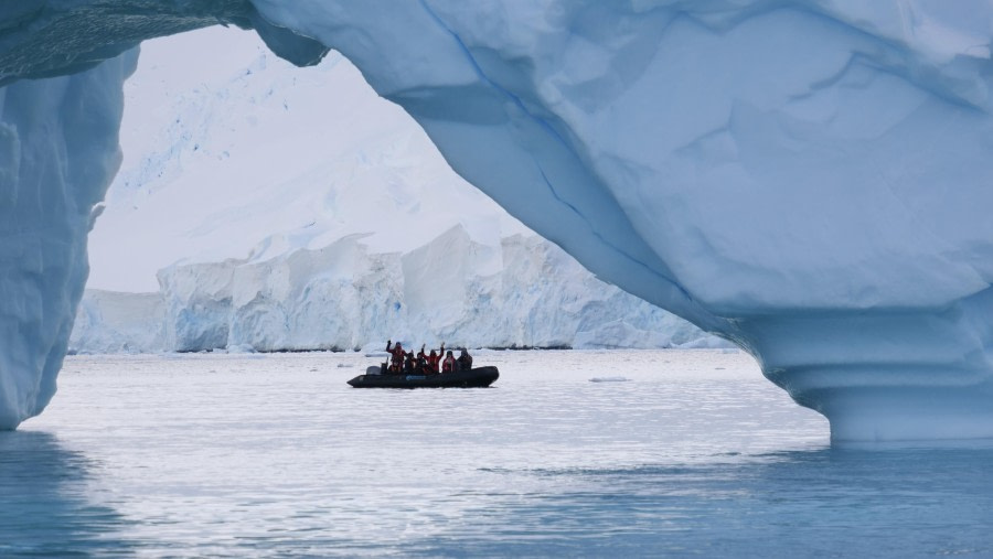
M 67 359 L 0 433 L 0 556 L 993 556 L 993 450 L 832 450 L 741 353 L 345 385 L 376 361 Z

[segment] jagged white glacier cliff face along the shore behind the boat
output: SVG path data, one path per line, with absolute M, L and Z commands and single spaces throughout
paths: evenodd
M 409 252 L 364 236 L 270 259 L 174 265 L 161 291 L 87 290 L 76 353 L 408 347 L 714 347 L 726 342 L 583 269 L 555 245 L 455 226 Z

